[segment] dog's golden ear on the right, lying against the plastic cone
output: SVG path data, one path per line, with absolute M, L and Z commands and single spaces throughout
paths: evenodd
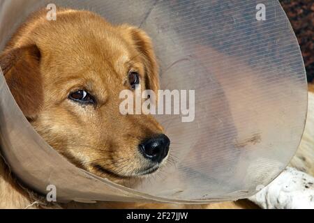
M 151 38 L 141 29 L 126 25 L 123 27 L 124 30 L 128 30 L 133 45 L 142 55 L 146 70 L 146 88 L 154 91 L 157 95 L 159 89 L 159 70 Z

